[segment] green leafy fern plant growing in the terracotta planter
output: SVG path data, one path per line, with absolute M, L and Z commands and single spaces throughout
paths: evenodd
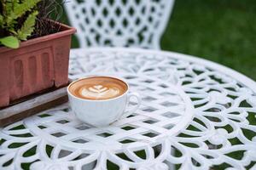
M 42 0 L 0 0 L 0 44 L 19 48 L 35 29 L 37 4 Z

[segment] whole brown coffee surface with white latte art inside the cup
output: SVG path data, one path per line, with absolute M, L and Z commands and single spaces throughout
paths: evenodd
M 74 82 L 69 91 L 81 99 L 113 99 L 127 91 L 125 82 L 113 77 L 88 77 Z

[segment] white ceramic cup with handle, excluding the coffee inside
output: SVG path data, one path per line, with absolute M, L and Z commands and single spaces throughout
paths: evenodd
M 67 94 L 71 108 L 75 115 L 79 118 L 80 121 L 89 124 L 90 126 L 108 126 L 109 124 L 119 119 L 130 116 L 132 113 L 134 113 L 134 111 L 138 109 L 139 105 L 141 105 L 142 99 L 140 95 L 137 93 L 131 93 L 129 91 L 130 88 L 128 83 L 116 77 L 109 78 L 115 78 L 121 82 L 124 82 L 127 88 L 124 94 L 121 94 L 115 98 L 95 100 L 83 99 L 73 95 L 69 90 L 70 87 L 74 83 L 84 80 L 86 78 L 90 77 L 84 77 L 69 84 L 69 86 L 67 87 Z M 133 97 L 137 99 L 137 105 L 129 106 L 128 104 Z

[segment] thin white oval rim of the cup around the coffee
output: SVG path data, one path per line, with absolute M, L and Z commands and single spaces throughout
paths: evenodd
M 79 98 L 79 97 L 73 95 L 73 94 L 69 91 L 69 88 L 73 85 L 73 83 L 79 82 L 79 81 L 81 81 L 81 80 L 84 80 L 84 79 L 87 79 L 87 78 L 91 78 L 91 77 L 107 77 L 107 78 L 114 78 L 114 79 L 117 79 L 117 80 L 119 80 L 119 81 L 121 81 L 121 82 L 124 82 L 125 85 L 127 86 L 127 89 L 126 89 L 126 91 L 125 91 L 124 94 L 121 94 L 121 95 L 119 95 L 119 96 L 117 96 L 117 97 L 115 97 L 115 98 L 111 98 L 111 99 L 82 99 L 82 98 Z M 80 100 L 83 100 L 83 101 L 89 101 L 89 102 L 104 102 L 104 101 L 110 101 L 110 100 L 114 100 L 114 99 L 119 99 L 119 98 L 125 96 L 125 94 L 127 94 L 127 93 L 129 92 L 129 89 L 130 89 L 129 84 L 128 84 L 127 82 L 125 82 L 125 80 L 122 79 L 122 78 L 120 78 L 120 77 L 100 76 L 100 75 L 93 76 L 93 75 L 92 75 L 92 76 L 88 76 L 88 77 L 82 77 L 82 78 L 79 78 L 78 80 L 75 80 L 75 81 L 71 82 L 71 83 L 67 86 L 67 94 L 69 94 L 70 96 L 72 96 L 72 97 L 75 98 L 75 99 L 80 99 Z

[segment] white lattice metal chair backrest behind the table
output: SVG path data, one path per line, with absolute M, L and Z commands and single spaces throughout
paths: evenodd
M 71 0 L 65 3 L 80 47 L 160 48 L 174 0 Z

